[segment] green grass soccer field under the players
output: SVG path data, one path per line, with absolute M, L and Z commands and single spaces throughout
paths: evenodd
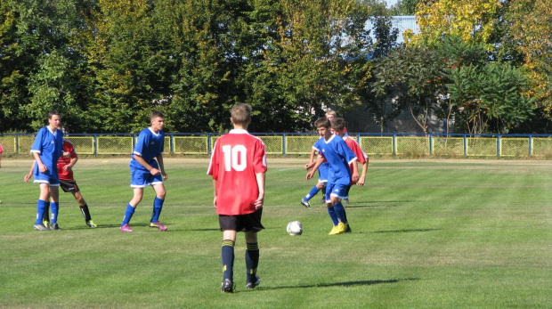
M 152 190 L 118 232 L 128 159 L 81 159 L 77 183 L 97 229 L 61 194 L 63 231 L 37 232 L 30 160 L 0 169 L 0 307 L 86 308 L 546 308 L 552 304 L 552 162 L 373 159 L 345 205 L 352 234 L 329 236 L 325 207 L 299 200 L 314 181 L 304 160 L 269 159 L 261 285 L 222 294 L 208 159 L 166 159 L 161 221 L 148 227 Z M 288 236 L 289 221 L 304 234 Z

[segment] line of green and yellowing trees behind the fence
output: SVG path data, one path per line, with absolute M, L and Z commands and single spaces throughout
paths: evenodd
M 223 132 L 237 102 L 252 132 L 361 107 L 382 132 L 407 110 L 425 131 L 433 116 L 459 133 L 548 133 L 551 6 L 2 0 L 0 133 L 35 132 L 49 110 L 72 133 L 137 132 L 154 109 L 168 132 Z M 420 33 L 398 45 L 392 14 L 416 14 Z

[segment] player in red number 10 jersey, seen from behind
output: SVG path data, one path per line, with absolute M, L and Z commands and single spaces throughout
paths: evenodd
M 222 292 L 234 291 L 233 264 L 237 232 L 245 232 L 246 289 L 254 289 L 260 282 L 256 275 L 259 263 L 257 232 L 261 224 L 264 204 L 264 173 L 266 155 L 264 143 L 248 133 L 251 106 L 238 104 L 231 109 L 234 128 L 215 142 L 207 175 L 213 177 L 214 199 L 218 221 L 223 231 Z

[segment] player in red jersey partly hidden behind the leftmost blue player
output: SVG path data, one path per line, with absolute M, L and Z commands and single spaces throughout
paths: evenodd
M 63 130 L 61 123 L 59 123 L 57 128 L 59 130 Z M 58 176 L 60 177 L 61 190 L 63 190 L 64 192 L 70 192 L 71 194 L 73 194 L 73 197 L 77 199 L 78 207 L 80 207 L 81 213 L 85 217 L 86 225 L 90 228 L 95 228 L 97 225 L 93 223 L 85 198 L 80 193 L 80 189 L 78 188 L 77 181 L 75 181 L 75 178 L 73 177 L 73 167 L 75 166 L 75 164 L 77 164 L 77 160 L 78 160 L 77 151 L 75 151 L 75 147 L 73 146 L 73 143 L 69 142 L 68 140 L 63 140 L 63 153 L 61 154 L 60 159 L 58 159 L 58 164 L 57 164 Z M 34 163 L 33 163 L 33 166 L 31 166 L 30 171 L 28 172 L 28 175 L 25 175 L 24 180 L 26 183 L 33 174 L 33 168 L 34 168 Z M 46 203 L 45 214 L 43 216 L 43 224 L 45 225 L 46 228 L 50 227 L 48 208 L 49 208 L 49 202 Z

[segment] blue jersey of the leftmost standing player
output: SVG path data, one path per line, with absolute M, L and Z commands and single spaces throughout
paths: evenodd
M 48 167 L 46 173 L 41 173 L 35 162 L 33 174 L 35 177 L 45 174 L 48 178 L 58 179 L 58 159 L 63 153 L 63 132 L 55 129 L 53 132 L 47 126 L 38 130 L 35 142 L 30 148 L 31 153 L 38 153 L 42 163 Z

